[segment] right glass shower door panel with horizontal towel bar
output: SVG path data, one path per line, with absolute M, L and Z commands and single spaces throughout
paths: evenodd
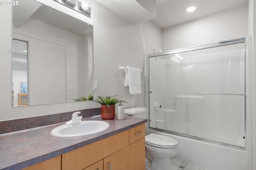
M 245 146 L 244 43 L 188 52 L 187 134 Z

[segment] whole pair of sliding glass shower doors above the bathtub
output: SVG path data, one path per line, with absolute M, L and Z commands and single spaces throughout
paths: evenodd
M 148 58 L 150 128 L 245 148 L 245 42 Z

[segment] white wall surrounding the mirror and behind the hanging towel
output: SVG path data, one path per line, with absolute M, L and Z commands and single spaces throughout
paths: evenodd
M 86 18 L 77 12 L 66 9 L 52 0 L 42 1 L 59 10 L 76 16 L 94 26 L 94 80 L 99 82 L 98 95 L 119 95 L 127 101 L 124 107 L 144 106 L 144 78 L 142 73 L 142 94 L 130 95 L 124 87 L 125 75 L 119 66 L 138 67 L 144 70 L 144 54 L 153 53 L 153 46 L 162 47 L 161 30 L 151 22 L 132 25 L 113 11 L 90 0 L 92 18 Z M 12 90 L 12 7 L 0 6 L 0 121 L 50 115 L 80 109 L 100 107 L 95 102 L 75 102 L 28 107 L 11 107 Z

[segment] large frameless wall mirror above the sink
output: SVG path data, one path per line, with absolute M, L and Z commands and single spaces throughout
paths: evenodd
M 12 107 L 93 93 L 93 26 L 35 0 L 13 6 Z

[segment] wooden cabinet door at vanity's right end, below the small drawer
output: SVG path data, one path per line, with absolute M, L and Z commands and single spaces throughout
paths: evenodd
M 104 170 L 145 170 L 145 137 L 104 158 Z M 110 164 L 109 164 L 110 163 Z

